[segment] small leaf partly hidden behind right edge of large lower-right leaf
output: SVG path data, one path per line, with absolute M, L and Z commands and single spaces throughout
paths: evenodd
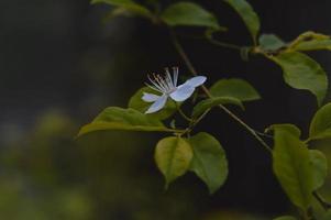
M 326 155 L 318 150 L 309 150 L 309 154 L 313 174 L 313 190 L 316 190 L 324 184 L 328 175 L 328 161 Z

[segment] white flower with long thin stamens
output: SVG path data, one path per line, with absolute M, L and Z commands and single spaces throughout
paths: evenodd
M 188 79 L 185 84 L 177 86 L 178 68 L 173 68 L 173 77 L 168 69 L 164 77 L 153 74 L 153 78 L 148 76 L 152 85 L 146 84 L 151 89 L 161 92 L 161 96 L 144 92 L 142 99 L 146 102 L 153 102 L 145 113 L 154 113 L 161 110 L 167 102 L 168 97 L 175 101 L 185 101 L 195 91 L 196 87 L 201 86 L 207 77 L 196 76 Z

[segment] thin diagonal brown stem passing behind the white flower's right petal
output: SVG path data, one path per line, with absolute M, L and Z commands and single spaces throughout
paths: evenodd
M 186 66 L 188 67 L 188 69 L 191 72 L 191 74 L 194 76 L 198 76 L 196 68 L 191 64 L 191 62 L 188 58 L 187 54 L 185 53 L 183 46 L 180 45 L 179 41 L 177 40 L 176 34 L 174 33 L 174 31 L 172 29 L 169 29 L 169 32 L 170 32 L 170 37 L 172 37 L 173 44 L 174 44 L 176 51 L 178 52 L 178 54 L 180 55 L 180 57 L 183 58 L 184 63 L 186 64 Z M 203 85 L 201 86 L 201 88 L 202 88 L 203 92 L 209 98 L 211 98 L 211 94 L 209 92 L 208 88 Z M 263 141 L 263 139 L 258 135 L 257 132 L 255 132 L 254 129 L 252 129 L 249 124 L 246 124 L 244 121 L 242 121 L 239 117 L 236 117 L 232 111 L 230 111 L 223 105 L 219 105 L 219 108 L 222 109 L 225 113 L 228 113 L 236 122 L 239 122 L 243 128 L 245 128 L 265 147 L 266 151 L 272 153 L 271 146 L 266 142 Z

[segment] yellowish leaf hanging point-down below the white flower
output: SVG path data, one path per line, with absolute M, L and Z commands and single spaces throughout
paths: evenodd
M 188 170 L 192 157 L 191 146 L 179 136 L 166 138 L 157 143 L 155 162 L 166 179 L 166 188 Z

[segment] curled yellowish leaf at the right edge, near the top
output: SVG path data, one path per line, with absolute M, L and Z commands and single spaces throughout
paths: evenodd
M 331 50 L 331 38 L 328 35 L 315 32 L 300 34 L 289 46 L 293 51 Z

